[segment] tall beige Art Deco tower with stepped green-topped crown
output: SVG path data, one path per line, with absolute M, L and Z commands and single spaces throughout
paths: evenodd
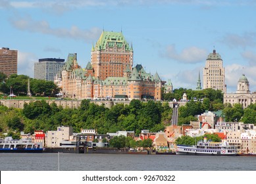
M 205 68 L 203 68 L 203 89 L 207 88 L 219 89 L 223 93 L 226 91 L 225 68 L 216 50 L 208 55 Z

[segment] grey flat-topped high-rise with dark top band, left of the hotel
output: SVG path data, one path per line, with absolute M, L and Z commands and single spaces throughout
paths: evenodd
M 34 64 L 34 78 L 54 81 L 56 74 L 63 70 L 63 58 L 39 58 Z

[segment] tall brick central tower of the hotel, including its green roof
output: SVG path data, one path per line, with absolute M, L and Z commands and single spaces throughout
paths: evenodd
M 134 51 L 122 32 L 103 31 L 91 48 L 91 66 L 95 78 L 123 77 L 127 67 L 132 70 Z

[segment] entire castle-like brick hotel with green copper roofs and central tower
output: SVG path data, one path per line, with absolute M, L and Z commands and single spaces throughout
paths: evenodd
M 78 65 L 76 53 L 70 53 L 55 83 L 64 97 L 73 99 L 161 101 L 164 82 L 157 72 L 152 75 L 141 64 L 133 68 L 132 64 L 133 49 L 122 33 L 103 32 L 91 49 L 91 62 L 86 68 Z

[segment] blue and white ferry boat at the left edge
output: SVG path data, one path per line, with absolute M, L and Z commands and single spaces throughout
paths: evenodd
M 0 152 L 43 152 L 43 143 L 33 143 L 31 139 L 0 139 Z

